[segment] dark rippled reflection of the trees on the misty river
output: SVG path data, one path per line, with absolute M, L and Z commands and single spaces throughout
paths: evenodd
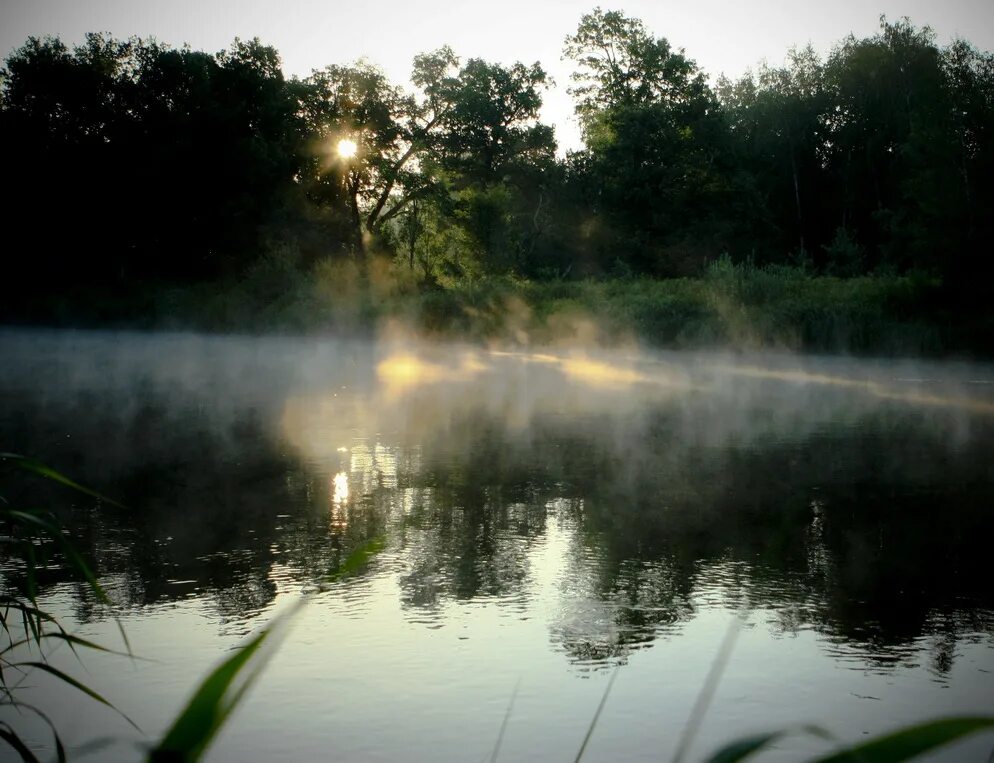
M 436 372 L 384 394 L 355 365 L 335 386 L 278 368 L 177 384 L 145 365 L 111 385 L 8 382 L 0 424 L 131 507 L 61 516 L 121 606 L 196 598 L 234 632 L 383 538 L 357 574 L 392 576 L 412 622 L 483 603 L 540 615 L 579 666 L 709 604 L 762 610 L 774 638 L 815 630 L 864 669 L 924 643 L 942 675 L 961 640 L 994 633 L 981 414 L 777 378 L 636 394 L 650 372 L 633 371 L 581 389 L 550 385 L 550 362 L 488 376 L 464 360 L 454 387 Z M 82 588 L 74 601 L 102 616 Z

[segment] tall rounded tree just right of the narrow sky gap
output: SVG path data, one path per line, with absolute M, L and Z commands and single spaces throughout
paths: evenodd
M 579 67 L 572 92 L 587 143 L 573 180 L 589 214 L 626 242 L 614 258 L 655 275 L 699 269 L 732 193 L 728 130 L 704 73 L 615 11 L 585 15 L 564 53 Z M 697 251 L 676 254 L 688 240 Z

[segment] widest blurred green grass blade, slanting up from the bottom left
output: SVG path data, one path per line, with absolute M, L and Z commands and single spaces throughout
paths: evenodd
M 275 650 L 273 633 L 285 626 L 303 600 L 214 668 L 186 708 L 149 754 L 149 761 L 197 761 L 217 736 Z M 263 648 L 266 646 L 267 648 Z

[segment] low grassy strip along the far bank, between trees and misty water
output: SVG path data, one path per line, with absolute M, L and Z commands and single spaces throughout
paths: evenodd
M 698 277 L 451 279 L 426 286 L 376 260 L 301 270 L 265 258 L 246 275 L 129 299 L 70 302 L 57 325 L 212 332 L 371 335 L 393 331 L 502 346 L 776 349 L 894 356 L 984 356 L 994 317 L 950 302 L 922 272 L 842 278 L 719 258 Z M 365 284 L 363 285 L 363 282 Z

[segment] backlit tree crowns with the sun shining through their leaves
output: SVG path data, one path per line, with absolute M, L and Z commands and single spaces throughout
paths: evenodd
M 347 205 L 351 250 L 364 254 L 369 236 L 403 241 L 413 263 L 426 232 L 412 222 L 417 206 L 432 207 L 420 217 L 436 229 L 455 226 L 489 242 L 505 226 L 487 219 L 481 230 L 472 214 L 453 215 L 467 206 L 459 196 L 513 194 L 515 178 L 553 163 L 555 141 L 537 123 L 546 83 L 538 64 L 470 59 L 460 68 L 444 47 L 417 56 L 411 79 L 420 93 L 404 93 L 365 62 L 329 66 L 307 80 L 303 105 L 318 157 L 308 182 Z M 357 143 L 355 156 L 337 155 L 342 138 Z

